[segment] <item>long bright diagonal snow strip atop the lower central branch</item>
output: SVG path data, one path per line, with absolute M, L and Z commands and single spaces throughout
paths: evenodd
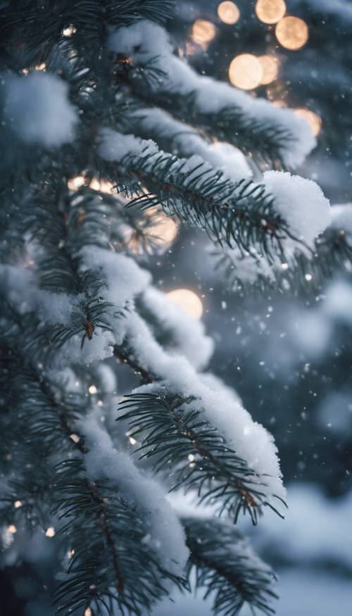
M 168 354 L 153 339 L 146 323 L 135 313 L 127 315 L 123 323 L 127 341 L 137 363 L 163 379 L 142 386 L 135 391 L 161 391 L 192 396 L 192 408 L 205 413 L 210 425 L 217 427 L 237 454 L 258 474 L 265 477 L 263 492 L 266 500 L 279 506 L 277 498 L 285 498 L 277 448 L 269 432 L 241 406 L 228 388 L 214 387 L 213 382 L 199 377 L 187 358 Z

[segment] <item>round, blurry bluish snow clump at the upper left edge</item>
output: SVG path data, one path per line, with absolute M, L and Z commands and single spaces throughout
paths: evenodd
M 6 118 L 24 142 L 56 147 L 73 140 L 78 116 L 63 80 L 39 71 L 11 76 L 5 96 Z

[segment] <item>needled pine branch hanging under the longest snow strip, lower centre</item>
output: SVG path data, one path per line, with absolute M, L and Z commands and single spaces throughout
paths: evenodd
M 215 505 L 234 522 L 242 511 L 256 524 L 263 505 L 274 509 L 260 491 L 265 478 L 249 469 L 201 411 L 192 408 L 190 398 L 130 394 L 120 410 L 118 421 L 127 421 L 130 435 L 140 442 L 136 453 L 154 460 L 155 472 L 171 463 L 172 489 L 196 489 L 201 503 Z

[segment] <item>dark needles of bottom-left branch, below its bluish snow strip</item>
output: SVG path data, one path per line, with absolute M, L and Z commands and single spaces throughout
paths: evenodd
M 57 616 L 88 606 L 94 615 L 113 616 L 117 607 L 143 616 L 168 594 L 167 579 L 184 584 L 153 558 L 140 513 L 115 486 L 89 482 L 82 460 L 65 460 L 56 470 L 54 513 L 70 552 L 67 579 L 54 595 Z

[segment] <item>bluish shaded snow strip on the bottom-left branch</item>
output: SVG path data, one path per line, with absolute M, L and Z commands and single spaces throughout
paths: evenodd
M 94 416 L 80 422 L 80 433 L 89 452 L 84 465 L 94 481 L 109 479 L 118 492 L 137 505 L 150 535 L 149 544 L 158 553 L 162 565 L 173 574 L 182 574 L 188 559 L 184 529 L 176 513 L 166 500 L 163 489 L 152 479 L 142 475 L 130 455 L 117 451 L 108 433 Z

